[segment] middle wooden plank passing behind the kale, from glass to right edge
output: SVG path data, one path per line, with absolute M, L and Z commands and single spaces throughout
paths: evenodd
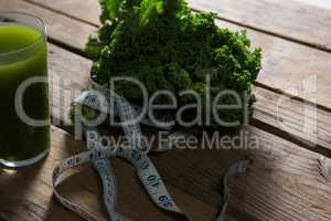
M 71 125 L 71 102 L 87 86 L 92 62 L 52 44 L 49 55 L 53 122 L 67 127 Z M 66 61 L 72 61 L 75 65 Z M 271 127 L 266 129 L 273 133 L 278 130 L 281 136 L 292 138 L 292 141 L 301 141 L 303 144 L 300 145 L 331 156 L 330 112 L 316 108 L 317 117 L 313 117 L 310 114 L 314 109 L 309 104 L 260 87 L 256 87 L 255 92 L 257 103 L 252 122 L 254 125 Z

